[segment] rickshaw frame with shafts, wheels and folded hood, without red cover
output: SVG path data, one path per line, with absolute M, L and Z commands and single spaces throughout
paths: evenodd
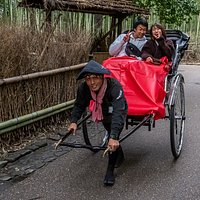
M 170 144 L 171 151 L 175 159 L 177 159 L 182 150 L 183 146 L 183 136 L 185 130 L 185 96 L 184 96 L 184 77 L 181 73 L 178 73 L 178 66 L 188 48 L 188 42 L 190 37 L 179 30 L 166 30 L 167 38 L 171 39 L 175 44 L 175 53 L 172 61 L 172 69 L 165 78 L 165 91 L 166 97 L 164 99 L 164 105 L 166 108 L 166 119 L 170 120 Z M 149 35 L 147 34 L 147 38 Z M 64 145 L 73 148 L 86 148 L 92 152 L 98 152 L 99 150 L 105 150 L 108 134 L 106 131 L 99 134 L 100 142 L 93 143 L 93 139 L 98 135 L 97 133 L 91 135 L 88 131 L 88 121 L 91 113 L 85 112 L 82 119 L 78 122 L 78 126 L 82 126 L 83 138 L 85 144 L 80 143 L 68 143 L 64 140 L 71 134 L 71 132 L 66 133 L 66 135 L 61 138 L 57 143 L 55 143 L 56 148 L 59 145 Z M 92 125 L 90 125 L 92 126 Z M 129 129 L 129 126 L 131 128 Z M 145 116 L 130 116 L 126 118 L 125 133 L 120 137 L 119 142 L 121 143 L 127 137 L 132 135 L 141 126 L 148 126 L 148 130 L 151 131 L 151 127 L 155 127 L 154 114 L 147 114 Z

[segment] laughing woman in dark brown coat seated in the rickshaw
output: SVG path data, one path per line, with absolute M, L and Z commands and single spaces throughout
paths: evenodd
M 166 38 L 166 32 L 162 25 L 155 23 L 150 29 L 151 39 L 142 48 L 142 59 L 150 63 L 161 64 L 160 58 L 166 56 L 172 61 L 174 44 Z

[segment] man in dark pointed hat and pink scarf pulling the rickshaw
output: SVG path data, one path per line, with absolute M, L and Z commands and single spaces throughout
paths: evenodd
M 127 102 L 121 84 L 116 79 L 105 78 L 104 74 L 110 74 L 110 71 L 93 60 L 89 61 L 79 73 L 77 80 L 85 79 L 85 81 L 77 90 L 68 130 L 75 133 L 77 121 L 93 100 L 95 109 L 92 111 L 92 120 L 101 121 L 109 133 L 110 152 L 104 184 L 113 185 L 114 168 L 124 160 L 118 139 L 126 120 Z

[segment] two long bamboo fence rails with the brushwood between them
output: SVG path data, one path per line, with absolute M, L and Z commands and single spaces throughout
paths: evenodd
M 72 108 L 85 64 L 0 79 L 0 135 Z

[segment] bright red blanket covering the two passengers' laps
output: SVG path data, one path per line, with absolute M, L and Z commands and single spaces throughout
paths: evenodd
M 113 57 L 103 62 L 103 66 L 111 71 L 111 77 L 118 79 L 123 86 L 128 115 L 155 114 L 154 119 L 165 117 L 166 58 L 162 61 L 161 65 L 153 65 L 130 57 Z

